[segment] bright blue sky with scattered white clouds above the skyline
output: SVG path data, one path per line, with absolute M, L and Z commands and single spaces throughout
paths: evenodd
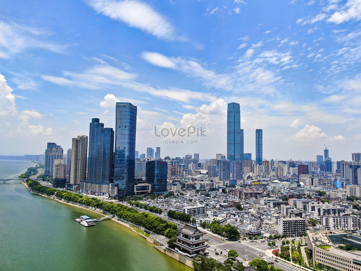
M 139 153 L 225 154 L 230 102 L 253 158 L 257 128 L 266 159 L 361 151 L 361 0 L 0 3 L 0 154 L 68 149 L 117 101 Z M 190 125 L 206 137 L 155 136 Z

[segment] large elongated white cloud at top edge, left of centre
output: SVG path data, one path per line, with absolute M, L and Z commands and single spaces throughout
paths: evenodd
M 177 38 L 173 26 L 165 17 L 145 3 L 134 0 L 88 0 L 87 2 L 97 13 L 139 28 L 157 38 L 166 40 Z

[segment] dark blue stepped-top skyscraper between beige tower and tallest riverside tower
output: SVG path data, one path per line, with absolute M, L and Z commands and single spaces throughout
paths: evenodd
M 109 183 L 113 177 L 113 128 L 92 119 L 89 129 L 88 181 Z

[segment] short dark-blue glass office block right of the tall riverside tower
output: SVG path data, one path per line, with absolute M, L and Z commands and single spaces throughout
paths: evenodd
M 167 192 L 167 162 L 153 160 L 147 162 L 145 181 L 151 184 L 152 193 Z

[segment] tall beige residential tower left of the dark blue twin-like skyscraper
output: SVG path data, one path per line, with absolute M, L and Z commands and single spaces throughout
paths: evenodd
M 71 143 L 70 184 L 80 184 L 87 177 L 88 137 L 78 136 Z

